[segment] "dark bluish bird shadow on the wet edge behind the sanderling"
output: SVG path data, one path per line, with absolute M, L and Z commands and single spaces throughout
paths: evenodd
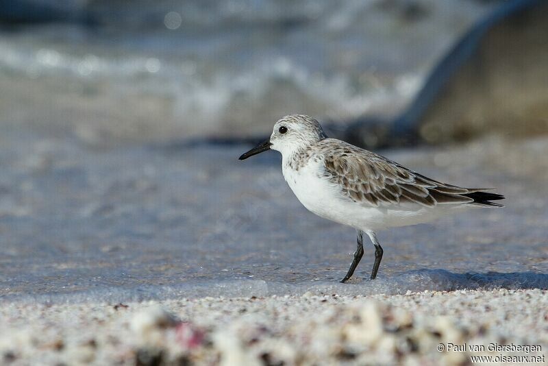
M 548 289 L 548 274 L 525 272 L 453 273 L 445 269 L 416 269 L 402 273 L 408 282 L 421 283 L 440 291 L 464 289 Z

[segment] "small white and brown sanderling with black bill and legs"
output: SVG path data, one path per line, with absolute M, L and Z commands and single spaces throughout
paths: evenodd
M 502 205 L 490 188 L 462 188 L 438 182 L 371 151 L 327 138 L 312 117 L 295 114 L 274 125 L 270 138 L 240 156 L 269 149 L 282 153 L 282 172 L 301 204 L 316 215 L 358 232 L 358 249 L 347 275 L 364 254 L 363 234 L 375 245 L 371 280 L 377 276 L 382 247 L 375 232 L 432 221 L 459 208 Z

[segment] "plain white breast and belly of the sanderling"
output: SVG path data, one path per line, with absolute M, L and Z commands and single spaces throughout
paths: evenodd
M 341 188 L 321 175 L 318 163 L 309 162 L 298 171 L 283 168 L 284 178 L 301 204 L 314 214 L 360 230 L 383 230 L 432 221 L 439 210 L 422 206 L 367 207 L 341 194 Z

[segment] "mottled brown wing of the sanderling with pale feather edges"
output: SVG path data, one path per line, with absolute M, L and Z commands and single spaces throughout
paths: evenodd
M 408 202 L 432 207 L 436 204 L 473 202 L 472 198 L 464 194 L 475 190 L 426 178 L 371 151 L 352 145 L 348 145 L 347 149 L 324 154 L 324 164 L 325 175 L 342 187 L 344 195 L 354 202 L 368 206 L 390 206 Z

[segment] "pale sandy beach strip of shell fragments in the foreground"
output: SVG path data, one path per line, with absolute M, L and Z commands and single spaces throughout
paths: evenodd
M 538 289 L 12 303 L 0 309 L 0 356 L 10 365 L 482 364 L 475 356 L 545 365 L 547 309 Z

